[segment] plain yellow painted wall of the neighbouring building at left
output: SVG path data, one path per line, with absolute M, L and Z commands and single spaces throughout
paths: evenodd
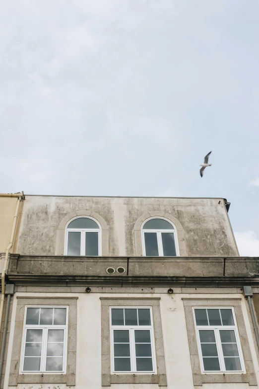
M 15 197 L 0 197 L 0 252 L 4 252 L 10 242 L 16 204 Z

